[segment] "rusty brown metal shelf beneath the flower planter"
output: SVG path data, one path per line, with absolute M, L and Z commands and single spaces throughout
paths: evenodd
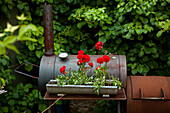
M 45 93 L 44 100 L 56 100 L 60 98 L 57 94 Z M 102 97 L 102 95 L 65 95 L 61 100 L 126 100 L 124 88 L 118 90 L 117 95 L 110 95 L 110 97 Z

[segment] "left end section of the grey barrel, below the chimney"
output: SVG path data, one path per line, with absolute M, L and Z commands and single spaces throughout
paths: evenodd
M 56 56 L 43 56 L 40 62 L 39 69 L 39 86 L 42 94 L 45 94 L 46 84 L 50 81 L 50 79 L 54 76 L 54 64 L 55 64 Z

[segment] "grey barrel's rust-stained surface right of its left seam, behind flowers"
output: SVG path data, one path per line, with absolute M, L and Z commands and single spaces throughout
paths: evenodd
M 93 67 L 90 68 L 88 64 L 85 66 L 89 68 L 88 76 L 91 76 L 94 74 L 94 70 L 99 66 L 99 63 L 97 63 L 97 58 L 102 57 L 103 55 L 90 55 L 90 62 L 93 63 Z M 120 59 L 120 58 L 121 59 Z M 123 60 L 123 61 L 121 61 Z M 66 59 L 61 59 L 58 56 L 56 56 L 56 62 L 55 62 L 55 74 L 54 75 L 60 75 L 60 68 L 62 66 L 66 66 L 66 71 L 71 68 L 71 70 L 78 70 L 77 66 L 77 55 L 69 55 Z M 120 65 L 121 62 L 121 65 Z M 104 65 L 104 63 L 102 64 Z M 120 78 L 122 82 L 126 81 L 127 73 L 126 71 L 126 57 L 124 55 L 111 55 L 110 61 L 107 63 L 107 66 L 109 69 L 107 70 L 110 75 L 113 75 L 115 78 Z M 123 72 L 121 72 L 123 71 Z M 120 77 L 122 76 L 122 77 Z M 107 76 L 107 78 L 109 78 Z

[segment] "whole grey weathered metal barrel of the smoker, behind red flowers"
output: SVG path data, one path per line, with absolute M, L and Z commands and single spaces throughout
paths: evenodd
M 99 66 L 96 59 L 102 57 L 103 55 L 90 55 L 93 62 L 93 68 L 90 68 L 88 76 L 94 73 L 94 70 Z M 126 86 L 127 69 L 126 69 L 126 57 L 125 55 L 110 55 L 111 60 L 108 62 L 108 73 L 113 75 L 115 78 L 119 78 L 123 85 Z M 66 66 L 66 71 L 71 68 L 71 70 L 78 70 L 77 66 L 77 55 L 68 55 L 67 58 L 62 59 L 58 55 L 54 56 L 43 56 L 40 63 L 39 71 L 39 85 L 41 90 L 45 91 L 45 85 L 53 79 L 56 75 L 60 75 L 60 68 Z M 85 66 L 88 68 L 88 65 Z

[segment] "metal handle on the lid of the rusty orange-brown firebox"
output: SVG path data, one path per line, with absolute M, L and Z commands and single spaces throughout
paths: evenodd
M 143 92 L 142 89 L 139 88 L 140 94 L 141 94 L 141 100 L 165 100 L 166 99 L 166 95 L 164 90 L 161 88 L 161 92 L 163 94 L 163 97 L 143 97 Z

